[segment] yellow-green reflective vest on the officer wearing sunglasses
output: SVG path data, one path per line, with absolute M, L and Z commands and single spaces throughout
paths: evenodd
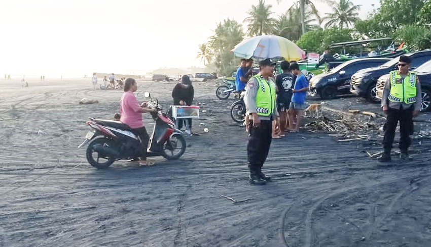
M 401 78 L 398 71 L 391 71 L 389 74 L 390 92 L 387 97 L 389 101 L 395 103 L 412 104 L 416 102 L 416 74 L 410 72 L 410 75 Z

